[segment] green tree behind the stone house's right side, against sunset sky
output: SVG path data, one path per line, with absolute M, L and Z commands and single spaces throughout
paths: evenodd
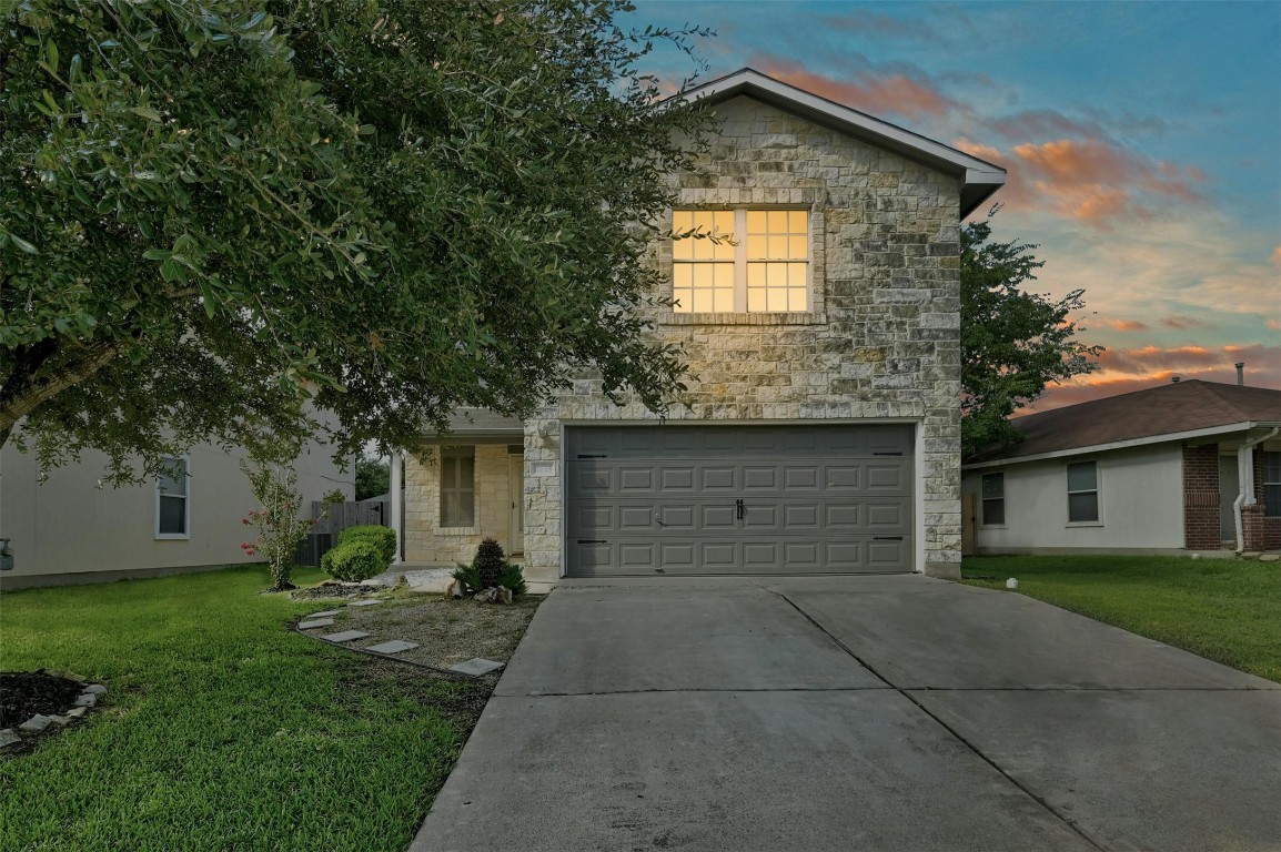
M 989 220 L 997 209 L 989 214 Z M 962 453 L 1020 440 L 1009 416 L 1050 383 L 1094 370 L 1103 347 L 1076 339 L 1085 290 L 1058 301 L 1026 288 L 1036 246 L 993 242 L 988 220 L 961 229 Z

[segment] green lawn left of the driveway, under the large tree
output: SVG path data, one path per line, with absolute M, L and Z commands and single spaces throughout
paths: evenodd
M 480 687 L 297 636 L 330 604 L 268 585 L 246 567 L 0 596 L 0 669 L 110 690 L 0 760 L 0 848 L 401 852 L 473 724 L 437 707 Z

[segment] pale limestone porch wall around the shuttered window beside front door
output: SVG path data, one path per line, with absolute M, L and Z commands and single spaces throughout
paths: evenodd
M 405 459 L 405 562 L 469 563 L 487 537 L 511 551 L 507 445 L 478 444 L 475 452 L 477 523 L 471 527 L 441 527 L 439 454 Z

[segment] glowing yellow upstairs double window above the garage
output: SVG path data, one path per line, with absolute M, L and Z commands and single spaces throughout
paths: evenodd
M 676 210 L 671 296 L 678 313 L 810 310 L 804 210 Z M 715 238 L 715 239 L 711 239 Z

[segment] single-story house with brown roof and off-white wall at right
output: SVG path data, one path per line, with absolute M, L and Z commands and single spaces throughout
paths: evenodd
M 1281 390 L 1182 381 L 1013 425 L 965 463 L 977 553 L 1281 548 Z

